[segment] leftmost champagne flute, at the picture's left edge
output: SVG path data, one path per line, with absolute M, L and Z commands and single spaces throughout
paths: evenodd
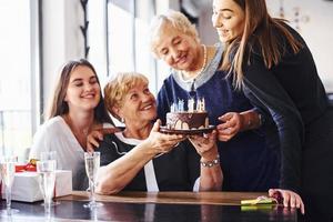
M 0 174 L 2 183 L 6 186 L 6 210 L 1 210 L 1 215 L 11 215 L 19 212 L 17 209 L 11 208 L 11 186 L 14 180 L 16 164 L 18 157 L 1 157 L 0 158 Z M 1 188 L 0 188 L 1 189 Z

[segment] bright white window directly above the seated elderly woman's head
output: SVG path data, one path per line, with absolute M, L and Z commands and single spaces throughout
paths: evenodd
M 157 93 L 159 78 L 157 62 L 149 46 L 150 19 L 154 2 L 147 0 L 108 1 L 109 75 L 121 71 L 137 71 L 150 80 L 150 89 Z

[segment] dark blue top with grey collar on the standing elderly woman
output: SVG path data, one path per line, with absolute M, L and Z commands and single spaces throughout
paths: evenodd
M 219 52 L 216 57 L 219 56 Z M 216 62 L 218 61 L 218 62 Z M 226 112 L 242 112 L 253 107 L 241 91 L 235 91 L 225 73 L 215 71 L 219 58 L 195 80 L 194 97 L 204 97 L 210 124 Z M 173 72 L 158 94 L 158 115 L 165 123 L 170 105 L 179 99 L 188 100 L 190 89 Z M 224 191 L 268 191 L 279 184 L 279 152 L 269 148 L 259 131 L 240 132 L 229 142 L 218 142 Z

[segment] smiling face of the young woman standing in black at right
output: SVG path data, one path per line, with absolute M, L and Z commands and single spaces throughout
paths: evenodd
M 212 22 L 220 41 L 230 42 L 243 34 L 245 14 L 233 0 L 214 0 Z

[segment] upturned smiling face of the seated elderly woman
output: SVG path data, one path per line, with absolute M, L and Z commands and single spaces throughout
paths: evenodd
M 133 122 L 150 123 L 157 118 L 157 101 L 147 82 L 138 82 L 124 95 L 121 108 L 117 111 L 125 124 Z

